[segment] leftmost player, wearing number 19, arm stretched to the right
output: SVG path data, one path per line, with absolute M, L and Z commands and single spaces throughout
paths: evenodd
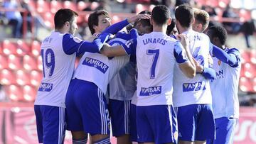
M 73 34 L 78 29 L 78 13 L 60 9 L 55 13 L 55 31 L 43 40 L 41 57 L 43 79 L 38 89 L 34 110 L 39 143 L 63 143 L 65 136 L 65 95 L 75 68 L 75 57 L 99 52 L 109 35 L 101 35 L 92 43 Z

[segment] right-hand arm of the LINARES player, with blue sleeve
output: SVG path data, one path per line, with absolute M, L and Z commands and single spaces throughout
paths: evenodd
M 186 42 L 184 35 L 179 35 L 179 39 L 184 47 L 181 43 L 177 42 L 174 46 L 174 57 L 183 74 L 185 74 L 186 77 L 193 78 L 196 76 L 196 66 L 193 62 L 192 55 L 188 50 L 188 43 Z

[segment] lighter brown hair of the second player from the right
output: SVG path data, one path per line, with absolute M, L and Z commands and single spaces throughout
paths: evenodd
M 210 22 L 209 13 L 202 9 L 194 9 L 194 15 L 196 21 L 198 21 L 198 23 L 202 23 L 203 31 L 205 31 Z

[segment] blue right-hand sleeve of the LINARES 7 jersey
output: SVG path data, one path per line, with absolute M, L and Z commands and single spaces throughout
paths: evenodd
M 179 64 L 188 61 L 186 52 L 180 42 L 176 42 L 176 44 L 174 45 L 174 57 L 176 58 L 176 62 L 178 62 Z

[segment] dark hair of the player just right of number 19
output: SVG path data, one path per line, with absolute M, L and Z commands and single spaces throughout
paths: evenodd
M 104 9 L 90 13 L 90 16 L 88 18 L 88 26 L 89 26 L 90 32 L 92 34 L 95 33 L 95 29 L 93 28 L 93 26 L 98 26 L 99 16 L 101 16 L 101 15 L 106 16 L 107 18 L 110 18 L 109 13 L 107 11 L 105 11 Z

